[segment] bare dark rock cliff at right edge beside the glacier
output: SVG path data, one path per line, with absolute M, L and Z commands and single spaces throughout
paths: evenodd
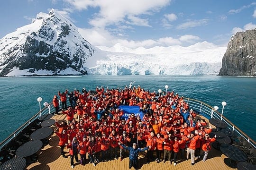
M 256 76 L 256 29 L 231 37 L 219 75 Z

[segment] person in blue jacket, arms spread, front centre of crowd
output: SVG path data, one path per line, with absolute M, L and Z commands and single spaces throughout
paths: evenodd
M 131 169 L 131 167 L 133 166 L 137 170 L 138 153 L 150 149 L 150 146 L 147 146 L 143 149 L 137 148 L 136 143 L 132 144 L 132 147 L 121 144 L 121 142 L 119 142 L 118 144 L 121 145 L 124 149 L 127 149 L 129 151 L 129 169 Z

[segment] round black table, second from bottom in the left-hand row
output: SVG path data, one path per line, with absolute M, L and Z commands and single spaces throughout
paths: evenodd
M 16 151 L 16 156 L 23 158 L 31 156 L 37 153 L 37 151 L 39 151 L 42 146 L 43 143 L 40 140 L 26 142 L 25 144 L 22 144 L 21 146 L 18 147 Z

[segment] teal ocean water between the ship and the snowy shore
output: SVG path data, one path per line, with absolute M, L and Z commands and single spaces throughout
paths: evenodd
M 124 88 L 130 82 L 145 90 L 174 90 L 180 96 L 198 99 L 211 106 L 227 102 L 223 115 L 256 140 L 256 77 L 231 76 L 40 76 L 0 77 L 0 141 L 4 140 L 39 110 L 38 97 L 51 102 L 60 90 Z M 42 105 L 43 107 L 43 105 Z

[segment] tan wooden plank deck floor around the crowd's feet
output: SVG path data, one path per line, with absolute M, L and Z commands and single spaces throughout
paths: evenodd
M 65 115 L 57 115 L 52 119 L 65 119 Z M 55 129 L 55 127 L 52 127 Z M 49 139 L 49 144 L 46 145 L 41 151 L 38 152 L 38 161 L 27 166 L 27 170 L 71 170 L 70 158 L 63 158 L 60 155 L 60 147 L 58 146 L 59 138 L 53 134 Z M 67 149 L 64 151 L 68 152 Z M 68 154 L 66 154 L 68 155 Z M 78 156 L 79 158 L 79 156 Z M 88 158 L 88 157 L 87 157 Z M 191 165 L 191 161 L 177 161 L 171 165 L 168 161 L 165 163 L 150 162 L 146 163 L 146 158 L 141 155 L 138 161 L 138 167 L 141 170 L 234 170 L 229 168 L 223 161 L 226 158 L 220 151 L 212 148 L 208 155 L 208 159 L 203 161 L 195 161 L 195 165 Z M 73 170 L 128 170 L 129 159 L 126 157 L 124 160 L 114 160 L 107 162 L 100 162 L 94 167 L 93 164 L 88 163 L 82 166 L 79 163 L 74 164 Z M 132 167 L 131 170 L 134 170 Z

